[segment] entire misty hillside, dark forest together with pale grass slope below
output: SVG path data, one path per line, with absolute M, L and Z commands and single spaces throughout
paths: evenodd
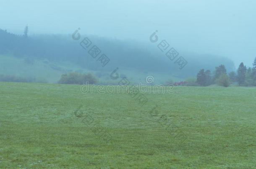
M 88 37 L 92 44 L 99 48 L 100 55 L 105 54 L 110 59 L 106 66 L 102 67 L 99 60 L 89 54 L 90 48 L 85 49 L 81 46 L 85 37 Z M 60 72 L 70 70 L 100 72 L 102 74 L 111 73 L 118 67 L 124 70 L 123 74 L 134 78 L 135 81 L 142 81 L 144 74 L 156 74 L 159 77 L 159 80 L 157 80 L 159 83 L 161 81 L 165 82 L 169 78 L 185 79 L 194 77 L 202 68 L 214 71 L 215 67 L 220 64 L 224 64 L 228 72 L 235 70 L 234 63 L 223 56 L 185 53 L 179 50 L 178 53 L 187 61 L 183 69 L 180 69 L 175 61 L 171 61 L 165 55 L 166 53 L 161 52 L 155 44 L 142 44 L 136 41 L 102 38 L 93 35 L 81 35 L 80 40 L 73 40 L 71 35 L 52 34 L 31 35 L 25 38 L 22 35 L 15 35 L 7 30 L 0 29 L 1 67 L 5 65 L 6 57 L 10 57 L 10 63 L 16 60 L 12 57 L 24 59 L 28 61 L 27 63 L 34 61 L 36 62 L 35 65 L 40 64 L 39 68 L 36 66 L 24 68 L 24 66 L 27 66 L 24 64 L 19 64 L 18 67 L 21 68 L 21 71 L 29 68 L 31 72 L 24 72 L 25 75 L 29 74 L 30 76 L 32 73 L 35 78 L 44 78 L 51 83 L 59 79 L 57 77 L 60 77 Z M 46 62 L 51 65 L 50 70 L 47 70 L 48 65 L 44 66 Z M 45 68 L 41 68 L 42 66 Z M 12 69 L 16 70 L 17 67 L 8 64 L 6 69 L 13 71 Z M 45 74 L 41 77 L 37 73 L 33 75 L 33 72 L 39 71 L 38 69 L 52 72 L 52 74 L 47 73 L 50 77 L 46 77 Z M 60 72 L 56 72 L 56 70 Z M 107 79 L 103 80 L 106 83 Z

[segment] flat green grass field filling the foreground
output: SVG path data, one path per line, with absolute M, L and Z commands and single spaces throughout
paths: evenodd
M 174 90 L 1 82 L 0 168 L 256 168 L 256 88 Z

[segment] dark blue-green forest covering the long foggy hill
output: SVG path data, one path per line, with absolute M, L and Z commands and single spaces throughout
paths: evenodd
M 85 38 L 86 36 L 83 36 Z M 156 45 L 142 47 L 139 43 L 125 40 L 113 40 L 97 36 L 87 36 L 93 45 L 110 58 L 110 62 L 102 67 L 97 59 L 92 58 L 88 50 L 81 47 L 81 40 L 73 40 L 71 35 L 15 35 L 0 29 L 0 54 L 18 58 L 47 59 L 49 61 L 69 61 L 90 70 L 111 71 L 116 67 L 137 71 L 154 71 L 172 73 L 181 78 L 195 76 L 201 68 L 214 70 L 224 64 L 228 71 L 234 70 L 234 63 L 223 57 L 214 55 L 183 54 L 188 62 L 180 70 L 178 64 L 171 61 Z

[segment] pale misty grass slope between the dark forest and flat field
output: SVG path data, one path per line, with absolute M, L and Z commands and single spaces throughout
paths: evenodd
M 35 78 L 37 81 L 46 81 L 48 83 L 57 83 L 60 77 L 64 73 L 79 72 L 79 73 L 93 73 L 99 80 L 99 84 L 110 84 L 113 81 L 110 78 L 112 71 L 94 71 L 86 68 L 82 68 L 74 63 L 70 62 L 50 62 L 45 60 L 33 60 L 32 63 L 26 62 L 27 58 L 16 58 L 11 55 L 0 55 L 0 74 L 17 76 L 22 78 Z M 136 69 L 131 70 L 128 68 L 119 68 L 118 73 L 122 76 L 129 77 L 136 83 L 145 83 L 147 76 L 154 76 L 156 84 L 165 84 L 166 81 L 172 79 L 173 81 L 183 81 L 183 78 L 178 78 L 178 74 L 171 75 L 170 73 L 153 73 L 153 72 L 141 72 Z

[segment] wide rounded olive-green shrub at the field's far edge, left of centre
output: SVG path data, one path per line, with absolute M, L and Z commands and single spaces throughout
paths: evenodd
M 86 83 L 86 81 L 88 81 L 89 84 L 97 83 L 97 79 L 91 73 L 84 74 L 84 73 L 77 73 L 77 72 L 61 75 L 58 83 L 84 84 Z

